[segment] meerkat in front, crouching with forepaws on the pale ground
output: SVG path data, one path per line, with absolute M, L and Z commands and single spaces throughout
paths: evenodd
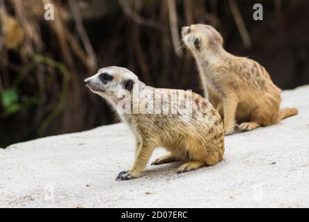
M 189 94 L 184 90 L 150 87 L 138 80 L 132 71 L 122 67 L 100 69 L 94 76 L 86 78 L 84 84 L 91 92 L 106 99 L 135 135 L 134 165 L 129 171 L 120 172 L 116 180 L 140 177 L 157 147 L 166 148 L 170 154 L 154 160 L 152 165 L 184 162 L 177 173 L 212 166 L 223 159 L 223 121 L 203 96 L 193 92 Z M 127 94 L 122 94 L 123 92 Z M 175 101 L 175 94 L 183 96 Z M 191 104 L 184 104 L 184 100 L 188 98 Z M 192 106 L 191 110 L 172 112 L 172 104 L 175 105 L 174 108 Z M 124 108 L 126 105 L 129 108 Z M 163 107 L 166 109 L 161 112 Z M 191 115 L 187 116 L 188 112 Z

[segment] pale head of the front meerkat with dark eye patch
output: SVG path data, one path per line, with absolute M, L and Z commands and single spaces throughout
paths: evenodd
M 130 92 L 138 78 L 132 71 L 122 67 L 106 67 L 97 71 L 97 74 L 86 78 L 84 84 L 95 94 L 100 96 L 117 96 L 122 89 Z

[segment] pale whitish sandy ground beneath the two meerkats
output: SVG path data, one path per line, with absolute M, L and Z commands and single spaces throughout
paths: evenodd
M 142 178 L 116 181 L 134 160 L 122 123 L 0 148 L 0 207 L 309 207 L 308 94 L 283 92 L 299 115 L 226 137 L 222 162 L 189 173 L 148 163 Z

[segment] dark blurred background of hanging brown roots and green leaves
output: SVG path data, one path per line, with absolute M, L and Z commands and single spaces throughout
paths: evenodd
M 54 5 L 46 21 L 45 4 Z M 134 71 L 148 85 L 202 94 L 180 28 L 211 24 L 225 49 L 267 68 L 274 83 L 309 83 L 309 1 L 0 0 L 0 147 L 115 123 L 84 87 L 99 67 Z

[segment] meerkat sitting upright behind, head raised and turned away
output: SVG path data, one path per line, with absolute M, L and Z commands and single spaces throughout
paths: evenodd
M 269 126 L 298 113 L 280 109 L 281 90 L 266 69 L 249 58 L 223 49 L 223 38 L 212 26 L 194 24 L 182 28 L 182 40 L 198 63 L 205 98 L 223 118 L 225 135 Z

